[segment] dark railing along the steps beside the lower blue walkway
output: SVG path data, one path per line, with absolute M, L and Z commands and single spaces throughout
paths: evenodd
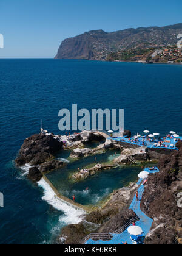
M 133 221 L 139 221 L 140 218 L 138 218 L 138 216 L 136 216 L 135 218 L 130 219 L 130 221 L 128 221 L 123 227 L 121 227 L 120 229 L 117 230 L 111 230 L 109 233 L 92 233 L 88 236 L 86 236 L 85 238 L 85 243 L 89 240 L 92 239 L 94 241 L 98 241 L 98 240 L 111 240 L 112 238 L 112 233 L 113 234 L 118 234 L 119 236 L 121 235 L 121 233 L 124 232 L 124 230 L 127 229 L 127 227 L 129 227 Z M 118 236 L 117 236 L 118 237 Z

